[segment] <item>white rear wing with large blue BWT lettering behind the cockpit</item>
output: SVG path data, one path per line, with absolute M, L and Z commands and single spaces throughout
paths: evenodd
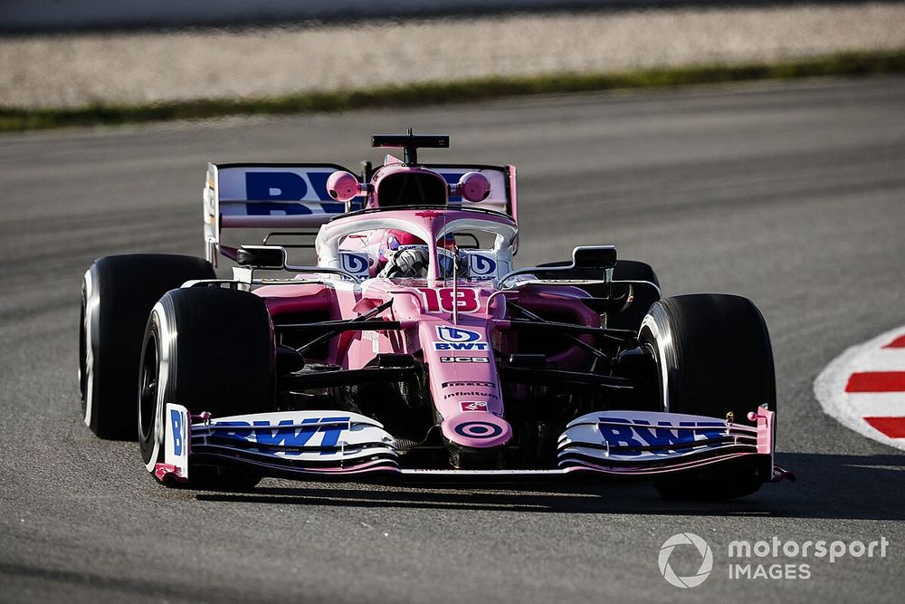
M 517 218 L 515 167 L 435 164 L 425 168 L 440 173 L 450 184 L 459 182 L 466 172 L 481 172 L 491 182 L 491 195 L 478 203 L 465 202 L 466 206 Z M 329 163 L 208 164 L 204 189 L 205 256 L 208 262 L 216 265 L 224 229 L 317 228 L 330 218 L 345 213 L 346 205 L 327 192 L 327 179 L 338 170 L 349 171 Z M 357 201 L 357 204 L 363 201 Z M 462 197 L 450 197 L 451 205 L 461 203 Z

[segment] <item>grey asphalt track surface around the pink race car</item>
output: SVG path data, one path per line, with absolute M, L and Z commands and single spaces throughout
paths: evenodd
M 81 275 L 102 254 L 201 251 L 205 161 L 379 158 L 372 131 L 443 131 L 425 158 L 519 166 L 521 264 L 616 244 L 666 292 L 738 292 L 776 352 L 795 484 L 730 503 L 646 484 L 400 487 L 266 480 L 167 490 L 95 439 L 75 379 Z M 428 110 L 0 138 L 0 599 L 901 601 L 905 456 L 826 417 L 814 376 L 905 323 L 905 79 L 800 81 Z M 661 544 L 713 548 L 700 587 Z M 886 537 L 885 559 L 730 580 L 732 539 Z M 672 560 L 697 569 L 687 551 Z

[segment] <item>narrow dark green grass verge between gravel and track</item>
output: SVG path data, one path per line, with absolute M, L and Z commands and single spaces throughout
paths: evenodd
M 842 53 L 789 62 L 697 65 L 615 73 L 557 73 L 428 81 L 367 90 L 302 92 L 269 99 L 210 99 L 148 105 L 95 104 L 76 109 L 0 107 L 0 131 L 195 120 L 236 115 L 285 115 L 481 101 L 507 96 L 616 89 L 666 88 L 729 81 L 905 72 L 905 49 Z

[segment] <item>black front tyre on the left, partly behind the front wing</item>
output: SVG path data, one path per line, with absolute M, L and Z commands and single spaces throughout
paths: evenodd
M 271 411 L 274 368 L 262 298 L 214 287 L 167 292 L 150 313 L 141 349 L 138 440 L 148 472 L 163 460 L 167 403 L 214 417 Z M 189 478 L 194 486 L 239 489 L 259 480 L 210 466 L 193 466 Z

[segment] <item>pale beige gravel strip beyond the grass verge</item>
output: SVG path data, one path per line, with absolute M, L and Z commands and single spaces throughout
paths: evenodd
M 0 107 L 264 98 L 412 81 L 905 48 L 905 3 L 0 37 Z

